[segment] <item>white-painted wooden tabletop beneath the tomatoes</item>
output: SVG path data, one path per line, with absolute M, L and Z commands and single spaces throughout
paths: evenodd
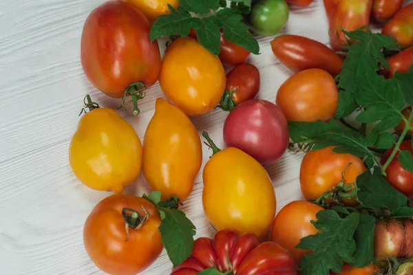
M 0 1 L 0 274 L 103 274 L 83 248 L 83 223 L 109 192 L 91 190 L 74 177 L 67 152 L 76 130 L 83 97 L 91 94 L 101 107 L 118 106 L 85 78 L 80 61 L 83 23 L 103 0 Z M 328 43 L 321 0 L 292 9 L 283 32 Z M 275 102 L 278 87 L 292 74 L 271 52 L 271 37 L 260 38 L 261 53 L 248 62 L 261 72 L 259 98 Z M 164 41 L 160 41 L 164 50 Z M 315 53 L 316 54 L 316 53 Z M 159 85 L 147 91 L 137 117 L 120 111 L 141 140 L 161 97 Z M 226 113 L 215 110 L 193 118 L 223 146 Z M 210 151 L 204 146 L 204 163 Z M 286 153 L 267 167 L 277 195 L 277 210 L 300 199 L 301 154 Z M 140 179 L 126 190 L 142 195 L 149 187 Z M 198 236 L 213 230 L 202 211 L 202 168 L 191 197 L 182 208 Z M 143 274 L 169 274 L 165 251 Z

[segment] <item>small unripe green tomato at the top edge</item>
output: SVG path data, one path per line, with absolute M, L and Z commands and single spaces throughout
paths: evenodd
M 284 0 L 260 0 L 253 4 L 249 21 L 257 34 L 273 36 L 286 24 L 288 13 Z

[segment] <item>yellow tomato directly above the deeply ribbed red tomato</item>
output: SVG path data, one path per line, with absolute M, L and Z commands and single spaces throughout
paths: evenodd
M 264 237 L 275 216 L 275 192 L 264 167 L 238 148 L 215 153 L 205 165 L 202 203 L 216 230 Z

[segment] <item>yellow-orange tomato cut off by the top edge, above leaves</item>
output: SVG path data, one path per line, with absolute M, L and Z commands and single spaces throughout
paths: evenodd
M 171 13 L 168 8 L 168 4 L 171 5 L 175 10 L 178 8 L 178 0 L 123 0 L 125 2 L 131 3 L 136 8 L 138 8 L 149 20 L 153 22 L 156 17 Z

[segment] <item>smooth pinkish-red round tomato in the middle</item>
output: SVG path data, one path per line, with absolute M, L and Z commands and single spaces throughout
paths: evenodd
M 284 114 L 266 100 L 241 103 L 224 123 L 226 146 L 239 148 L 263 165 L 276 162 L 286 151 L 289 140 Z

